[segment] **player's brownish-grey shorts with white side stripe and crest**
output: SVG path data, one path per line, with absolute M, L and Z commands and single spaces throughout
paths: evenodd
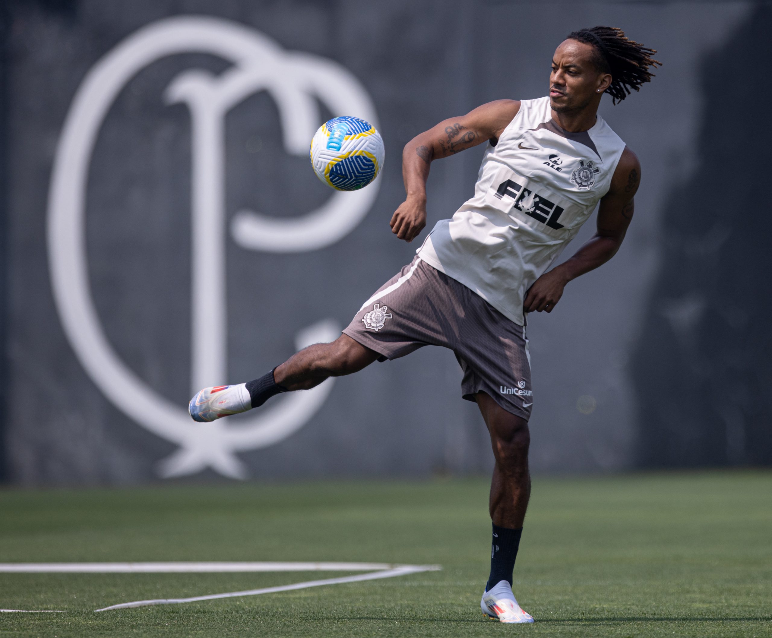
M 379 353 L 379 361 L 422 346 L 452 349 L 464 372 L 462 397 L 474 401 L 482 390 L 504 410 L 530 417 L 525 328 L 418 256 L 367 299 L 343 332 Z

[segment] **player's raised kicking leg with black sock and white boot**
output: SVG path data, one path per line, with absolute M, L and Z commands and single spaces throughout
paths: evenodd
M 275 394 L 309 390 L 330 376 L 358 372 L 376 359 L 374 350 L 341 335 L 333 343 L 315 343 L 300 350 L 259 379 L 204 388 L 191 399 L 188 411 L 201 422 L 239 414 L 261 406 Z

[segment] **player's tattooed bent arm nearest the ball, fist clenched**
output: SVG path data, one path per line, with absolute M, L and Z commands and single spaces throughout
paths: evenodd
M 496 100 L 478 106 L 460 117 L 442 120 L 417 135 L 402 151 L 405 201 L 391 217 L 391 231 L 398 238 L 413 241 L 426 225 L 426 180 L 432 160 L 449 157 L 499 135 L 520 110 L 516 100 Z

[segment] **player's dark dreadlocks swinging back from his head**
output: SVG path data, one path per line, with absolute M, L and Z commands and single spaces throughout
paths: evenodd
M 643 83 L 651 81 L 654 73 L 648 69 L 662 66 L 662 62 L 652 58 L 652 53 L 656 53 L 654 49 L 629 39 L 624 31 L 614 26 L 580 29 L 569 33 L 568 39 L 593 47 L 595 65 L 601 73 L 611 73 L 611 85 L 606 93 L 615 104 L 630 95 L 630 89 L 638 91 Z

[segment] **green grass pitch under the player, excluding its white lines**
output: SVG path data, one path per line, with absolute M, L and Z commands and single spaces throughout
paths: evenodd
M 0 491 L 0 562 L 362 561 L 442 572 L 94 613 L 337 573 L 0 574 L 2 636 L 772 636 L 772 473 L 536 478 L 486 621 L 487 482 Z

